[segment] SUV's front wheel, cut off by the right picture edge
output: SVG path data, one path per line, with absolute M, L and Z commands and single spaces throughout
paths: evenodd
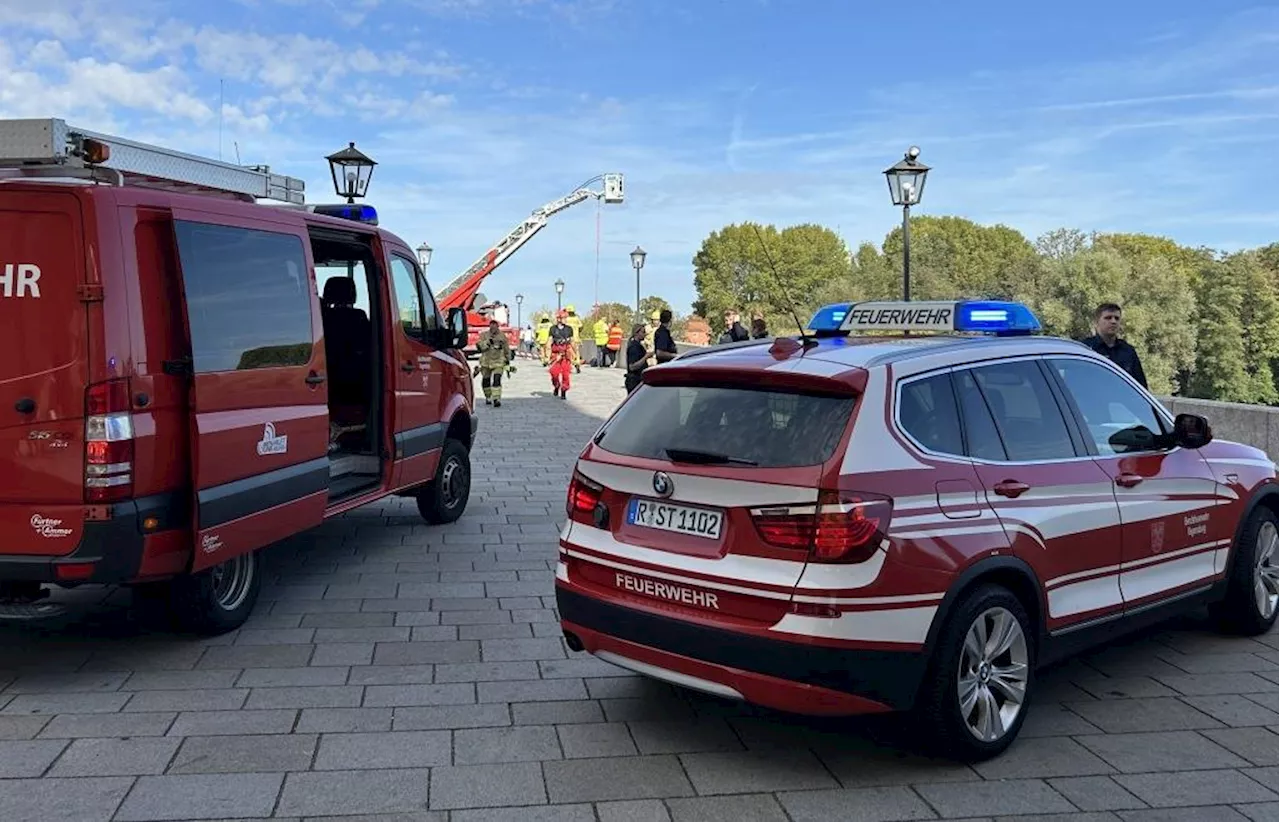
M 1219 625 L 1233 634 L 1266 634 L 1280 615 L 1280 517 L 1266 506 L 1249 513 L 1231 552 L 1226 595 L 1210 606 Z

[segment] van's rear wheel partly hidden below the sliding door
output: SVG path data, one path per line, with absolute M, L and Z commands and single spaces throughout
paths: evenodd
M 252 551 L 172 580 L 169 612 L 180 630 L 216 636 L 244 625 L 261 590 L 262 561 Z

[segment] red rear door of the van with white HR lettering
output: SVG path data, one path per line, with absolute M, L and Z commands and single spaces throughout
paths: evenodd
M 81 202 L 0 188 L 0 553 L 64 556 L 84 521 Z

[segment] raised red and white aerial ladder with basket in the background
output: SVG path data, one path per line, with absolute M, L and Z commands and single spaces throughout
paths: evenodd
M 599 189 L 591 188 L 595 183 L 600 183 Z M 475 350 L 476 338 L 481 329 L 489 324 L 489 318 L 480 314 L 477 311 L 479 306 L 475 305 L 476 294 L 480 292 L 480 283 L 484 282 L 484 278 L 493 274 L 494 269 L 509 260 L 511 255 L 516 254 L 521 246 L 532 239 L 534 234 L 540 232 L 547 225 L 547 220 L 553 215 L 588 200 L 599 200 L 607 204 L 622 202 L 622 174 L 600 174 L 599 177 L 593 177 L 559 200 L 553 200 L 539 209 L 534 209 L 532 214 L 511 229 L 506 237 L 499 239 L 479 260 L 472 262 L 471 268 L 451 279 L 436 292 L 436 302 L 442 311 L 448 311 L 453 307 L 466 310 L 467 326 L 470 329 L 468 350 Z M 502 330 L 507 334 L 512 347 L 518 347 L 520 329 L 506 326 Z

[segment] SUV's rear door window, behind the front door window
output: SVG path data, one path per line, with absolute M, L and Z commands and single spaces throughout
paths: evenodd
M 1024 360 L 988 365 L 973 369 L 973 375 L 996 419 L 1010 460 L 1021 462 L 1076 456 L 1066 420 L 1036 362 Z

